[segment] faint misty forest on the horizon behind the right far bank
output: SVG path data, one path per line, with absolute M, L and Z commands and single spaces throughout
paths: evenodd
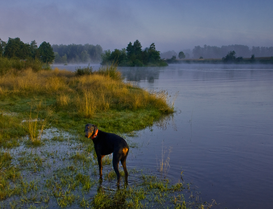
M 252 46 L 250 49 L 248 46 L 245 45 L 228 45 L 228 46 L 207 46 L 204 45 L 201 46 L 195 46 L 193 50 L 187 49 L 187 50 L 181 50 L 185 53 L 185 58 L 195 58 L 199 59 L 200 57 L 203 57 L 205 59 L 209 58 L 223 58 L 227 55 L 230 51 L 235 51 L 237 56 L 240 57 L 251 57 L 252 54 L 255 55 L 255 57 L 271 57 L 273 56 L 273 47 L 260 47 L 260 46 Z M 160 53 L 161 58 L 165 59 L 171 59 L 172 56 L 178 57 L 178 53 L 176 53 L 174 50 L 167 51 Z

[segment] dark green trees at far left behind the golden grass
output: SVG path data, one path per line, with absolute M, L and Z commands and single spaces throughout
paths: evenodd
M 9 38 L 8 42 L 0 39 L 0 57 L 20 60 L 36 59 L 43 63 L 52 64 L 55 56 L 49 42 L 42 42 L 38 47 L 37 42 L 24 43 L 20 38 Z

